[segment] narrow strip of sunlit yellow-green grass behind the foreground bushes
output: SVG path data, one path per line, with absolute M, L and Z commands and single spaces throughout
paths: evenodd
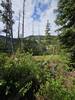
M 68 63 L 69 58 L 65 55 L 43 55 L 43 56 L 34 56 L 36 61 L 49 61 L 54 63 Z

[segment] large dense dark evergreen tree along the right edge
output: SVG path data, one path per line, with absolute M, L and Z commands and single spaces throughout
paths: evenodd
M 59 0 L 56 23 L 61 27 L 60 40 L 68 48 L 75 63 L 75 0 Z M 74 65 L 75 66 L 75 65 Z

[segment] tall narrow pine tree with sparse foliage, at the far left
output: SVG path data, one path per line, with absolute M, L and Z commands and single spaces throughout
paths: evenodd
M 2 0 L 1 6 L 3 7 L 2 11 L 2 21 L 4 23 L 3 32 L 6 33 L 6 51 L 13 52 L 13 19 L 12 19 L 12 2 L 11 0 Z

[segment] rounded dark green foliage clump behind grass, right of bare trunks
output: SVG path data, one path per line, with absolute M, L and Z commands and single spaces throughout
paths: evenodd
M 38 40 L 24 40 L 24 51 L 33 55 L 43 55 L 46 52 L 46 47 Z

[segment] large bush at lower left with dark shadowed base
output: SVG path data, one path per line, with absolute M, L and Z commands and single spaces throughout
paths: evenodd
M 3 58 L 0 61 L 3 63 Z M 0 100 L 33 100 L 39 89 L 39 65 L 29 54 L 7 57 L 0 69 Z

